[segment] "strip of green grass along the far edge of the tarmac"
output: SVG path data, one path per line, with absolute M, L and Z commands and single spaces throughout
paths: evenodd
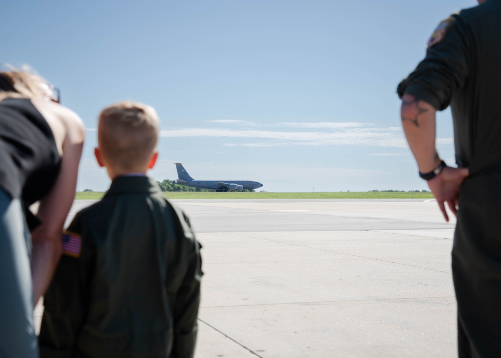
M 216 193 L 216 192 L 164 192 L 168 199 L 432 199 L 431 193 L 422 192 L 340 192 L 340 193 Z M 103 192 L 77 192 L 75 199 L 101 199 Z

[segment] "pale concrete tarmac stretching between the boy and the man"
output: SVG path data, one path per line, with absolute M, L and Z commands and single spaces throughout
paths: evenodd
M 457 356 L 455 219 L 435 201 L 174 203 L 203 246 L 195 358 Z

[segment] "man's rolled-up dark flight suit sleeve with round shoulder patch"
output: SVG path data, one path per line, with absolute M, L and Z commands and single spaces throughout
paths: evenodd
M 409 94 L 437 110 L 447 108 L 468 76 L 471 43 L 468 27 L 458 15 L 444 20 L 428 42 L 426 57 L 398 85 L 398 96 Z

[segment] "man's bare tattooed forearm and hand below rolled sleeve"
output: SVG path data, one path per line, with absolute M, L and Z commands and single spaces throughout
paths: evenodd
M 425 101 L 405 94 L 402 97 L 400 117 L 419 171 L 422 173 L 432 171 L 441 161 L 435 149 L 436 109 Z M 440 174 L 428 181 L 428 187 L 437 200 L 445 221 L 449 221 L 449 217 L 444 203 L 446 202 L 456 215 L 459 187 L 466 176 L 468 176 L 467 168 L 446 166 Z

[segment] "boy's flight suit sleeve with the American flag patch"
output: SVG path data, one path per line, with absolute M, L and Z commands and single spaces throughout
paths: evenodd
M 89 263 L 92 251 L 82 235 L 77 214 L 64 233 L 63 255 L 44 295 L 39 336 L 41 358 L 72 357 L 76 337 L 86 314 Z

